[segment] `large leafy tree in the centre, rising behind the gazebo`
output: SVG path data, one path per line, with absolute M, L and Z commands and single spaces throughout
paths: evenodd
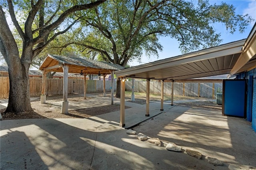
M 131 59 L 140 60 L 143 52 L 158 57 L 162 50 L 159 36 L 176 38 L 187 53 L 222 41 L 213 23 L 222 23 L 233 33 L 237 29 L 243 32 L 252 21 L 248 15 L 236 15 L 232 5 L 210 5 L 203 0 L 198 4 L 187 0 L 108 1 L 78 16 L 80 35 L 66 45 L 75 43 L 98 51 L 105 61 L 124 67 Z M 116 97 L 120 97 L 118 89 Z

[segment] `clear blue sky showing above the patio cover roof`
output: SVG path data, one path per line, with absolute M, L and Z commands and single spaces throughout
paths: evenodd
M 256 0 L 217 0 L 217 1 L 209 0 L 209 2 L 210 4 L 214 4 L 214 3 L 220 4 L 221 2 L 232 4 L 236 8 L 236 14 L 249 14 L 256 21 Z M 221 39 L 223 40 L 221 44 L 225 44 L 225 43 L 246 39 L 250 31 L 252 30 L 252 27 L 255 21 L 251 23 L 250 26 L 248 26 L 248 28 L 242 34 L 239 31 L 236 31 L 234 34 L 230 34 L 229 32 L 227 32 L 225 26 L 222 26 L 221 24 L 218 24 L 218 26 L 214 28 L 216 29 L 216 32 L 221 33 Z M 170 57 L 174 57 L 182 54 L 180 52 L 180 49 L 178 48 L 179 44 L 177 40 L 170 37 L 161 37 L 159 40 L 163 46 L 163 50 L 158 51 L 159 53 L 158 59 L 154 56 L 151 56 L 150 58 L 148 58 L 147 56 L 144 55 L 142 57 L 141 63 L 133 60 L 132 62 L 129 63 L 129 65 L 130 66 L 141 65 L 144 63 L 149 63 L 149 62 L 170 58 Z

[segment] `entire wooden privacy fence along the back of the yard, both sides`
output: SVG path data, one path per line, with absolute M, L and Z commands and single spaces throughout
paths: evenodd
M 103 80 L 87 80 L 87 92 L 103 91 Z M 164 82 L 164 94 L 171 95 L 171 82 Z M 114 91 L 116 81 L 114 80 Z M 126 82 L 126 91 L 132 91 L 132 82 Z M 30 95 L 41 95 L 42 78 L 30 77 Z M 199 89 L 199 90 L 198 90 Z M 106 80 L 106 91 L 111 91 L 111 81 Z M 146 93 L 146 81 L 135 81 L 134 91 Z M 174 83 L 174 95 L 215 98 L 222 92 L 222 83 Z M 68 79 L 68 94 L 84 93 L 83 79 Z M 150 93 L 161 94 L 161 82 L 150 81 Z M 63 79 L 47 79 L 46 95 L 62 95 Z M 9 96 L 9 77 L 0 77 L 0 98 Z

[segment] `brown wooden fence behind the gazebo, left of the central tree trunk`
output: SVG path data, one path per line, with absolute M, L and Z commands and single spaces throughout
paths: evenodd
M 106 91 L 111 91 L 111 81 L 106 80 Z M 86 80 L 87 92 L 103 91 L 103 80 Z M 113 85 L 116 90 L 116 81 Z M 30 77 L 30 95 L 41 95 L 42 78 Z M 84 93 L 83 79 L 68 79 L 68 94 Z M 46 80 L 46 95 L 62 95 L 63 94 L 63 79 L 47 79 Z M 0 98 L 9 97 L 9 77 L 0 77 Z

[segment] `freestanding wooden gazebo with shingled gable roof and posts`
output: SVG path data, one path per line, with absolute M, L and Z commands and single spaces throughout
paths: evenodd
M 66 57 L 63 55 L 48 54 L 43 63 L 39 67 L 42 70 L 42 92 L 41 103 L 46 103 L 46 73 L 49 71 L 63 72 L 63 102 L 61 113 L 68 112 L 68 73 L 77 73 L 84 75 L 84 99 L 86 99 L 86 75 L 103 75 L 103 96 L 106 96 L 105 77 L 111 74 L 111 82 L 113 87 L 114 71 L 124 69 L 124 67 L 77 57 Z M 111 104 L 114 103 L 114 88 L 111 88 Z

